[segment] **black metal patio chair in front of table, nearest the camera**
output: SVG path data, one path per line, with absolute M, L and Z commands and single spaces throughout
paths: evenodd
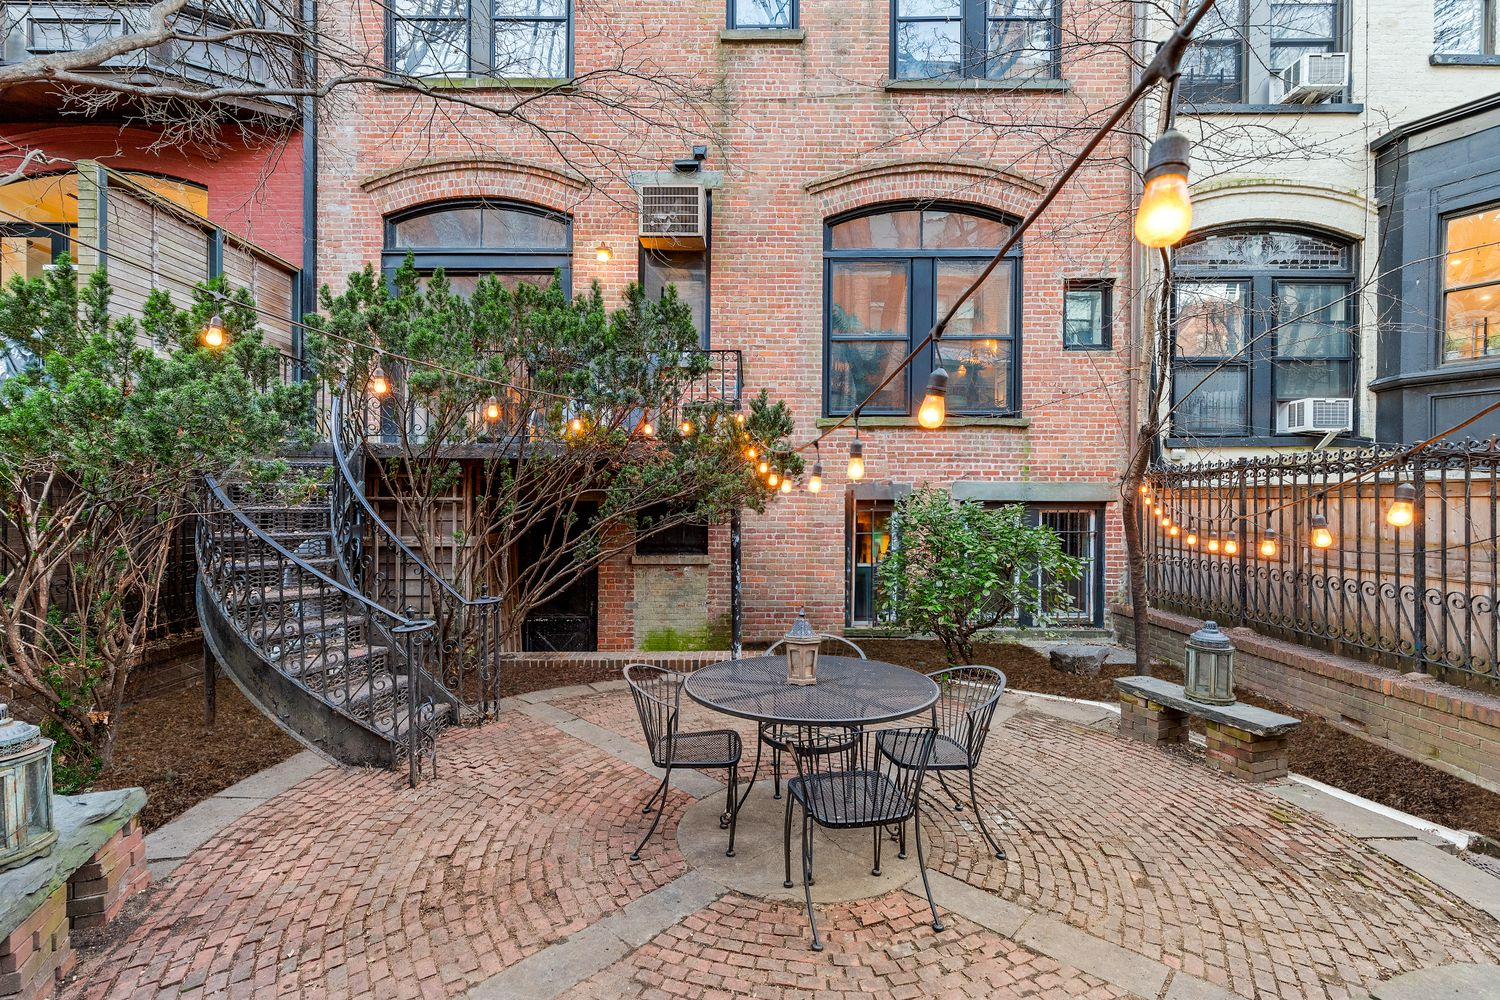
M 902 766 L 880 753 L 880 736 L 897 736 L 910 753 L 912 766 Z M 927 882 L 927 858 L 922 853 L 921 795 L 927 775 L 927 759 L 933 753 L 936 730 L 886 729 L 850 732 L 848 729 L 798 727 L 788 733 L 796 777 L 786 783 L 786 880 L 792 888 L 792 807 L 802 810 L 802 894 L 807 898 L 807 922 L 813 928 L 813 951 L 824 949 L 818 936 L 818 915 L 813 912 L 813 828 L 870 829 L 873 843 L 872 876 L 880 874 L 880 841 L 886 828 L 900 828 L 900 856 L 906 856 L 906 820 L 912 820 L 916 838 L 916 868 L 927 891 L 927 906 L 933 912 L 933 930 L 942 930 L 938 904 Z

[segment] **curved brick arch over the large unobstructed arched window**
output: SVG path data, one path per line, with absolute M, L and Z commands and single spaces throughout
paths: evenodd
M 914 157 L 843 169 L 804 184 L 824 219 L 886 202 L 942 201 L 1023 217 L 1042 184 L 974 160 Z

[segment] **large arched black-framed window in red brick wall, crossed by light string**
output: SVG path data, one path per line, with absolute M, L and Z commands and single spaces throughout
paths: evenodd
M 1010 237 L 976 208 L 880 207 L 825 229 L 824 411 L 843 415 L 902 363 Z M 1005 414 L 1017 406 L 1020 247 L 963 304 L 942 345 L 922 351 L 872 400 L 868 414 L 910 414 L 927 373 L 948 369 L 948 409 Z

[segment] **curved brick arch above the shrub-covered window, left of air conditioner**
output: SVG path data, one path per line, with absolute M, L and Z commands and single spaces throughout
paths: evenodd
M 572 214 L 590 190 L 574 171 L 500 156 L 462 156 L 404 163 L 360 181 L 380 214 L 464 198 L 520 201 Z

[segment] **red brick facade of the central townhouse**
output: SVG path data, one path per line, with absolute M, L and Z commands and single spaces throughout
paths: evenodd
M 573 288 L 600 282 L 616 295 L 639 274 L 636 193 L 630 171 L 668 169 L 692 136 L 710 145 L 712 189 L 711 346 L 740 349 L 746 393 L 786 399 L 796 441 L 824 412 L 824 234 L 830 217 L 891 201 L 944 199 L 1023 216 L 1082 142 L 1078 121 L 1122 97 L 1130 84 L 1128 4 L 1090 7 L 1064 30 L 1065 88 L 908 91 L 886 88 L 886 0 L 802 4 L 804 40 L 756 45 L 720 40 L 723 0 L 662 4 L 609 0 L 574 15 L 576 75 L 618 63 L 618 45 L 652 72 L 716 84 L 726 105 L 681 130 L 645 127 L 590 100 L 542 97 L 528 115 L 554 133 L 458 103 L 434 105 L 392 88 L 366 88 L 320 132 L 320 276 L 340 277 L 380 259 L 382 219 L 453 198 L 502 198 L 567 213 L 573 220 Z M 380 58 L 384 7 L 366 0 L 324 4 L 330 30 Z M 1064 19 L 1071 4 L 1064 4 Z M 1080 43 L 1077 39 L 1083 37 Z M 628 87 L 628 84 L 624 84 Z M 466 100 L 504 106 L 516 91 L 470 87 Z M 675 114 L 675 112 L 674 112 Z M 666 117 L 666 115 L 663 115 Z M 675 118 L 681 123 L 681 118 Z M 1026 123 L 1026 127 L 1008 124 Z M 586 148 L 584 141 L 592 145 Z M 602 162 L 608 145 L 614 153 Z M 1101 501 L 1118 475 L 1128 409 L 1128 309 L 1116 303 L 1119 351 L 1062 351 L 1065 279 L 1112 277 L 1128 286 L 1130 175 L 1126 141 L 1101 148 L 1024 240 L 1018 330 L 1020 421 L 946 427 L 867 427 L 870 483 L 948 486 L 957 480 L 1054 484 L 1068 499 L 1092 487 Z M 614 259 L 598 262 L 606 243 Z M 786 631 L 806 606 L 814 627 L 844 624 L 849 432 L 824 448 L 828 489 L 778 496 L 765 516 L 746 516 L 746 639 Z M 1080 493 L 1082 496 L 1082 493 Z M 1122 574 L 1120 526 L 1108 504 L 1107 586 Z M 728 540 L 716 531 L 706 573 L 710 625 L 728 613 Z M 656 570 L 628 556 L 600 573 L 602 649 L 638 642 L 633 607 Z

